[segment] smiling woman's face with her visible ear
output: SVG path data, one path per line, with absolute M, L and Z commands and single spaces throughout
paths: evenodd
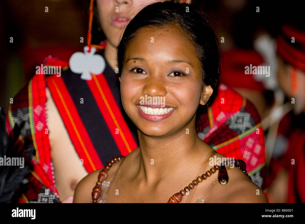
M 149 136 L 191 129 L 188 124 L 191 120 L 195 124 L 199 103 L 204 105 L 213 93 L 207 86 L 203 95 L 201 70 L 194 46 L 181 30 L 169 26 L 138 30 L 127 46 L 120 77 L 127 115 Z M 158 105 L 149 105 L 156 100 Z

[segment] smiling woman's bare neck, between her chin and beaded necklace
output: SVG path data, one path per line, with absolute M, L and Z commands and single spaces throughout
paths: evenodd
M 146 136 L 138 131 L 138 174 L 147 184 L 181 174 L 196 175 L 198 167 L 208 162 L 206 156 L 214 150 L 198 137 L 195 127 L 189 134 L 185 129 L 166 137 Z

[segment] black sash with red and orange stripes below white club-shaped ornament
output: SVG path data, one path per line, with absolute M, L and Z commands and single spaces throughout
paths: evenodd
M 99 54 L 104 57 L 103 50 Z M 86 170 L 92 172 L 110 158 L 126 156 L 137 148 L 138 135 L 123 109 L 120 83 L 109 64 L 106 62 L 102 74 L 92 75 L 92 80 L 80 76 L 67 69 L 46 81 L 74 148 Z

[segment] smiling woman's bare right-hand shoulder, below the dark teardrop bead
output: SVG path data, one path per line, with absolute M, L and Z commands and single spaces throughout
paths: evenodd
M 224 157 L 217 153 L 217 157 Z M 262 189 L 253 183 L 242 170 L 233 166 L 226 166 L 228 183 L 215 184 L 206 197 L 206 201 L 214 203 L 268 203 Z M 216 173 L 218 175 L 218 172 Z M 217 179 L 217 176 L 215 176 Z

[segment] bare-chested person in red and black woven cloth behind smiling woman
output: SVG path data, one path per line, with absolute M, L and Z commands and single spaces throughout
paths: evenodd
M 94 1 L 93 15 L 103 33 L 98 38 L 106 39 L 96 46 L 100 49 L 96 55 L 105 59 L 102 73 L 83 80 L 68 62 L 48 57 L 43 65 L 61 66 L 61 76 L 36 74 L 13 99 L 6 119 L 8 133 L 25 121 L 19 139 L 29 139 L 35 154 L 34 168 L 21 179 L 11 202 L 72 202 L 75 186 L 84 176 L 109 158 L 137 148 L 136 129 L 121 105 L 116 47 L 128 21 L 153 2 L 157 1 Z M 92 28 L 92 39 L 95 34 Z M 217 152 L 245 160 L 253 182 L 261 187 L 265 156 L 259 114 L 246 98 L 219 86 L 214 103 L 198 119 L 198 135 Z

